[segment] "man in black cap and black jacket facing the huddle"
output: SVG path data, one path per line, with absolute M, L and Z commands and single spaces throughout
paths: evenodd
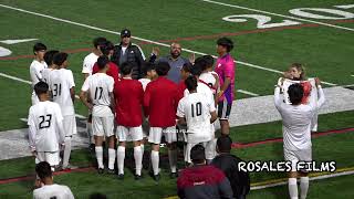
M 129 30 L 122 30 L 121 43 L 119 45 L 115 45 L 111 61 L 118 66 L 124 62 L 131 63 L 133 65 L 132 77 L 135 80 L 143 77 L 142 66 L 144 64 L 145 56 L 139 46 L 132 44 Z

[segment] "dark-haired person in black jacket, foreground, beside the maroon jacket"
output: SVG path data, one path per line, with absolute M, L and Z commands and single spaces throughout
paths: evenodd
M 230 154 L 232 140 L 229 136 L 221 136 L 217 140 L 218 156 L 214 158 L 211 165 L 223 171 L 229 179 L 233 197 L 244 199 L 250 191 L 250 177 L 248 172 L 239 170 L 238 164 L 242 159 Z

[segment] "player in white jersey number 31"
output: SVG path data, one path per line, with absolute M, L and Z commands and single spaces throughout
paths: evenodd
M 56 53 L 53 62 L 59 69 L 50 73 L 49 87 L 52 92 L 53 102 L 59 104 L 64 117 L 65 148 L 62 168 L 70 169 L 71 139 L 77 133 L 74 111 L 75 83 L 73 72 L 66 69 L 69 65 L 66 53 Z

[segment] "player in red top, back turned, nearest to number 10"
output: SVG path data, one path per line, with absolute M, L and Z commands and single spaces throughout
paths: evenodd
M 163 135 L 168 143 L 171 177 L 177 177 L 176 109 L 178 105 L 177 85 L 166 77 L 170 66 L 159 62 L 156 66 L 158 78 L 147 84 L 144 95 L 145 115 L 150 124 L 148 142 L 153 144 L 152 165 L 154 179 L 159 180 L 159 144 Z

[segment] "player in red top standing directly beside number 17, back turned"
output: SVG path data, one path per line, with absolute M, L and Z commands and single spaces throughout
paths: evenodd
M 142 178 L 143 154 L 140 142 L 143 139 L 142 107 L 144 90 L 139 81 L 132 78 L 133 66 L 125 62 L 121 66 L 122 80 L 114 86 L 115 121 L 117 123 L 118 178 L 124 178 L 125 143 L 133 140 L 135 159 L 135 179 Z

